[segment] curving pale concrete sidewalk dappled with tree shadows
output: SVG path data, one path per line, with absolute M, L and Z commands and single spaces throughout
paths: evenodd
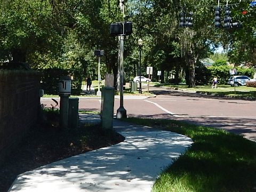
M 80 121 L 99 122 L 98 115 Z M 191 145 L 190 138 L 114 121 L 117 145 L 66 158 L 20 174 L 9 191 L 151 191 L 157 175 Z

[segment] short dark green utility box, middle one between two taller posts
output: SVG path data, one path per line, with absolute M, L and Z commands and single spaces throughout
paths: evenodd
M 68 128 L 77 129 L 78 127 L 78 103 L 79 98 L 68 98 Z

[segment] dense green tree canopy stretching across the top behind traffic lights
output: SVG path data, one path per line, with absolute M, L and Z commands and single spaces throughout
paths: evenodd
M 218 5 L 213 0 L 128 0 L 125 18 L 116 0 L 2 1 L 0 58 L 26 61 L 35 69 L 76 68 L 96 76 L 93 50 L 100 49 L 105 51 L 102 73 L 116 74 L 118 38 L 109 35 L 109 25 L 125 19 L 133 22 L 132 35 L 125 37 L 126 71 L 137 75 L 141 38 L 142 75 L 146 66 L 154 67 L 154 76 L 157 70 L 174 71 L 176 76 L 187 71 L 188 84 L 195 86 L 196 63 L 220 45 L 229 62 L 256 65 L 255 7 L 247 0 L 228 4 L 233 22 L 242 27 L 215 28 Z M 225 5 L 220 5 L 222 25 Z M 193 27 L 179 27 L 181 11 L 193 12 Z

